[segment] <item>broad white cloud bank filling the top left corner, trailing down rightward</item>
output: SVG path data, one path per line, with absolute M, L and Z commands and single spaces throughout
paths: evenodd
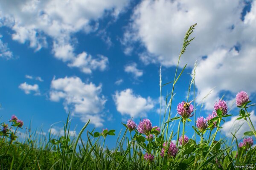
M 105 68 L 106 58 L 88 57 L 89 63 L 77 65 L 77 60 L 86 59 L 81 57 L 86 53 L 74 53 L 73 44 L 76 40 L 72 35 L 79 31 L 96 31 L 99 19 L 106 15 L 118 17 L 128 4 L 127 0 L 2 1 L 0 26 L 11 28 L 14 31 L 13 40 L 20 43 L 29 42 L 29 46 L 35 50 L 47 47 L 47 37 L 50 37 L 53 44 L 52 52 L 56 58 L 68 62 L 73 67 L 81 68 L 85 73 L 90 73 L 90 69 L 96 69 L 90 67 L 94 62 L 103 64 L 97 68 Z

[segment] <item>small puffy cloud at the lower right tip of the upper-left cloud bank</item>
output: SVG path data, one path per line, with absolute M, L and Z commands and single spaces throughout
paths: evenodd
M 91 55 L 83 52 L 79 54 L 69 66 L 78 67 L 83 73 L 91 74 L 92 70 L 96 69 L 104 71 L 108 66 L 108 57 L 99 55 L 99 58 L 93 59 Z

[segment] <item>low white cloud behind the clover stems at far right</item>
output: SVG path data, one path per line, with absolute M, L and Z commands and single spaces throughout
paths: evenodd
M 256 126 L 256 116 L 254 111 L 252 111 L 250 116 L 251 121 L 253 122 L 254 127 Z M 236 132 L 236 137 L 241 139 L 244 136 L 244 132 L 251 131 L 249 125 L 244 119 L 236 120 L 239 116 L 232 116 L 230 121 L 226 121 L 221 129 L 221 132 L 224 132 L 225 136 L 232 138 L 233 134 Z

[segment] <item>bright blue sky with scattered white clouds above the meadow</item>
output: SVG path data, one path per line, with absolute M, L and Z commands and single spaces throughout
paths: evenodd
M 1 121 L 16 114 L 25 125 L 31 120 L 48 132 L 70 112 L 76 131 L 88 119 L 89 129 L 99 131 L 119 131 L 130 117 L 159 125 L 160 65 L 163 84 L 172 81 L 184 34 L 194 23 L 195 40 L 180 60 L 178 71 L 187 68 L 175 88 L 172 116 L 186 100 L 197 60 L 198 114 L 202 106 L 200 114 L 207 116 L 224 95 L 234 115 L 222 130 L 228 137 L 230 127 L 243 123 L 235 121 L 236 93 L 244 90 L 256 100 L 256 2 L 251 0 L 1 1 Z M 163 96 L 171 90 L 164 86 Z M 62 125 L 52 129 L 61 131 Z M 242 126 L 240 138 L 248 128 Z

